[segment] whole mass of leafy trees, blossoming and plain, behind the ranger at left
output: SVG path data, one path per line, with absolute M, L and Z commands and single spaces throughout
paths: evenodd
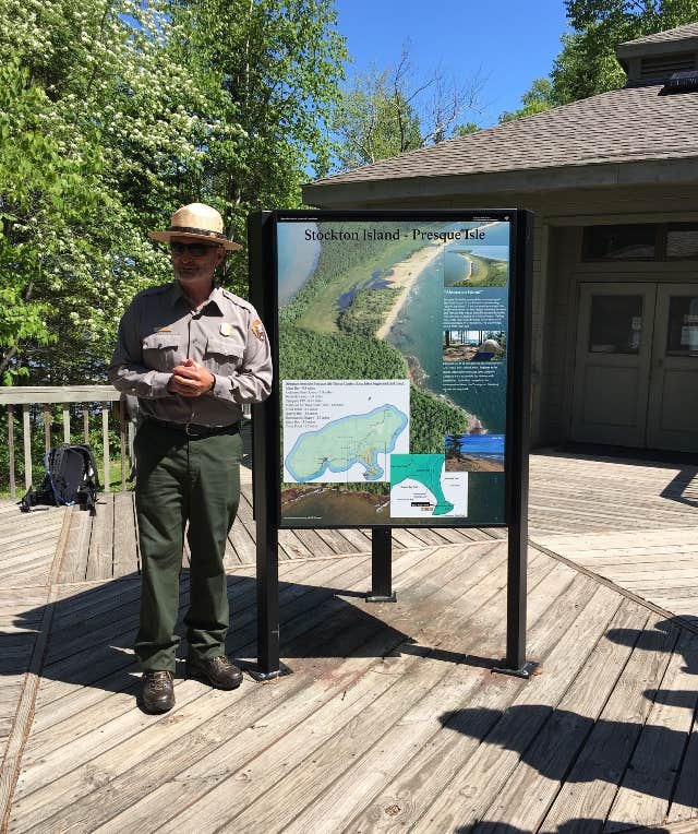
M 250 210 L 299 204 L 328 154 L 334 19 L 328 0 L 0 0 L 4 384 L 105 379 L 130 298 L 171 279 L 147 231 L 178 205 L 244 239 Z

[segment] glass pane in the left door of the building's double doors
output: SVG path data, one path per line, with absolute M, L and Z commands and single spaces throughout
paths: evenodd
M 642 296 L 592 296 L 590 354 L 637 354 L 642 327 Z

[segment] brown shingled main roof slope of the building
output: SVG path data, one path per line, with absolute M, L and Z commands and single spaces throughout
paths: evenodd
M 315 180 L 311 188 L 603 163 L 698 159 L 698 91 L 661 96 L 661 88 L 654 84 L 603 93 Z

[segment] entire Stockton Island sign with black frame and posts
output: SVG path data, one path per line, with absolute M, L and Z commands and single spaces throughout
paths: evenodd
M 506 526 L 507 650 L 526 664 L 532 215 L 261 212 L 250 289 L 275 360 L 253 408 L 257 677 L 279 664 L 279 528 Z M 416 534 L 421 535 L 421 534 Z

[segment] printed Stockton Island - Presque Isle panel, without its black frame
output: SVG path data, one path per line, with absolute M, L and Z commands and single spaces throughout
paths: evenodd
M 504 523 L 510 222 L 276 222 L 281 525 Z

